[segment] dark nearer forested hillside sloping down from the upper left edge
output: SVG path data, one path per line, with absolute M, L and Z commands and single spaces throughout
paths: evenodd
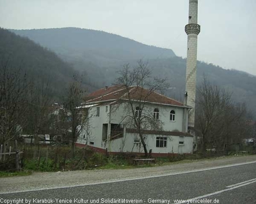
M 0 62 L 1 69 L 6 63 L 9 68 L 20 68 L 26 73 L 28 80 L 33 80 L 35 84 L 48 83 L 52 94 L 57 98 L 75 73 L 75 69 L 54 52 L 1 28 Z M 90 84 L 86 86 L 90 87 Z

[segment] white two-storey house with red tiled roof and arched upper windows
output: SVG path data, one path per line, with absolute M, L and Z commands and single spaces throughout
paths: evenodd
M 152 156 L 193 153 L 193 136 L 188 133 L 190 107 L 157 92 L 148 94 L 147 89 L 122 85 L 105 87 L 88 95 L 79 108 L 85 110 L 87 120 L 77 146 L 88 145 L 100 152 L 143 153 L 132 116 L 145 115 L 150 122 L 143 125 L 142 133 Z

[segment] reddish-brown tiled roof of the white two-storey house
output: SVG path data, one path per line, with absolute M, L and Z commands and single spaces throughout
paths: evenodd
M 115 85 L 113 87 L 99 89 L 98 91 L 89 94 L 85 100 L 86 103 L 100 103 L 103 101 L 128 99 L 128 92 L 132 100 L 147 101 L 150 103 L 161 103 L 164 105 L 184 106 L 179 101 L 158 94 L 157 92 L 150 92 L 148 89 L 143 89 L 142 87 L 126 88 L 123 85 Z

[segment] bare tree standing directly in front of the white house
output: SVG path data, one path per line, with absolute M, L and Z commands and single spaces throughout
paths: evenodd
M 145 156 L 147 157 L 148 150 L 143 130 L 161 129 L 162 125 L 161 121 L 154 119 L 152 113 L 147 112 L 147 100 L 155 91 L 166 89 L 166 79 L 152 78 L 148 64 L 142 60 L 138 61 L 138 66 L 135 68 L 125 64 L 119 75 L 120 77 L 116 79 L 116 84 L 124 85 L 125 98 L 128 101 L 126 103 L 126 118 L 131 121 L 129 124 L 136 129 L 140 136 Z

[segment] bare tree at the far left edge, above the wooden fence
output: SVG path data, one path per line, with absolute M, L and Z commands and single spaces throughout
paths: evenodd
M 29 83 L 21 68 L 12 68 L 8 61 L 1 62 L 0 71 L 0 143 L 13 140 L 22 129 L 26 112 L 26 94 Z

